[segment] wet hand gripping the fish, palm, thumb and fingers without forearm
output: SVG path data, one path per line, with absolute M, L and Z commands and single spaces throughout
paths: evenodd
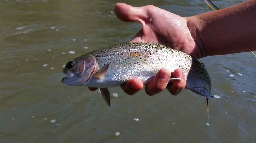
M 142 29 L 130 42 L 157 42 L 196 57 L 196 44 L 185 18 L 151 5 L 132 7 L 123 3 L 115 5 L 115 14 L 122 21 L 139 21 L 142 24 Z M 181 69 L 176 69 L 172 73 L 172 78 L 181 78 L 183 81 L 173 81 L 168 85 L 170 77 L 170 71 L 160 69 L 153 80 L 145 86 L 146 93 L 155 95 L 167 88 L 171 94 L 179 94 L 186 85 L 184 73 Z M 134 78 L 124 83 L 121 88 L 127 94 L 133 95 L 143 88 L 143 82 Z

